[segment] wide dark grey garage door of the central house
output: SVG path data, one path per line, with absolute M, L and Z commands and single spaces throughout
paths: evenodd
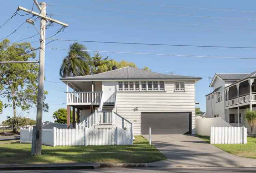
M 154 135 L 191 134 L 191 112 L 186 113 L 141 113 L 141 134 Z

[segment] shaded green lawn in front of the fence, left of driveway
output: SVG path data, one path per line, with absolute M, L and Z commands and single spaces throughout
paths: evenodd
M 133 145 L 42 146 L 41 156 L 30 156 L 31 144 L 0 142 L 0 163 L 145 163 L 164 160 L 153 145 L 135 136 Z

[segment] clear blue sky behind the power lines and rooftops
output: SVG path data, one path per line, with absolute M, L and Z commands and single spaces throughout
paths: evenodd
M 155 5 L 136 5 L 119 3 L 124 0 L 46 0 L 47 14 L 53 14 L 53 18 L 67 22 L 69 27 L 54 38 L 79 39 L 93 41 L 120 41 L 120 42 L 142 42 L 154 44 L 191 44 L 211 46 L 255 46 L 255 20 L 256 13 L 214 11 L 198 8 L 181 8 Z M 72 2 L 72 3 L 71 3 Z M 169 0 L 127 0 L 130 3 L 152 3 L 169 6 L 189 6 L 201 8 L 232 9 L 239 11 L 254 11 L 256 2 L 243 1 L 169 1 Z M 32 0 L 1 0 L 0 25 L 12 16 L 18 5 L 31 9 Z M 62 6 L 54 6 L 62 5 Z M 75 5 L 75 6 L 74 6 Z M 63 7 L 65 6 L 65 7 Z M 37 8 L 34 7 L 34 11 Z M 129 11 L 129 12 L 127 12 Z M 132 12 L 131 12 L 132 11 Z M 19 12 L 25 14 L 24 12 Z M 151 13 L 151 14 L 148 14 Z M 154 13 L 154 14 L 153 14 Z M 168 14 L 186 15 L 174 16 Z M 191 16 L 212 16 L 221 19 Z M 30 16 L 29 16 L 30 17 Z M 0 37 L 4 37 L 15 30 L 28 16 L 16 16 L 4 27 L 0 28 Z M 250 20 L 248 20 L 250 19 Z M 187 25 L 185 25 L 187 24 Z M 201 26 L 199 26 L 201 25 Z M 203 26 L 202 26 L 203 25 Z M 211 26 L 205 26 L 211 25 Z M 35 27 L 39 26 L 39 20 Z M 24 24 L 17 32 L 8 37 L 11 42 L 32 36 L 37 33 L 35 29 Z M 59 30 L 57 24 L 46 30 L 46 37 L 52 36 Z M 27 41 L 37 41 L 33 37 Z M 54 41 L 46 47 L 68 49 L 72 42 Z M 224 48 L 195 48 L 176 46 L 144 46 L 144 45 L 118 45 L 101 43 L 83 43 L 88 50 L 140 52 L 156 54 L 177 55 L 204 55 L 204 56 L 228 56 L 228 57 L 256 57 L 254 49 L 224 49 Z M 39 43 L 32 44 L 39 47 Z M 154 56 L 100 53 L 112 59 L 122 59 L 134 62 L 139 68 L 148 66 L 152 71 L 165 73 L 174 71 L 175 74 L 200 76 L 203 79 L 196 84 L 196 102 L 205 111 L 205 95 L 209 93 L 209 80 L 215 73 L 250 73 L 255 71 L 255 60 L 233 60 L 233 59 L 206 59 L 193 57 Z M 37 54 L 38 57 L 39 54 Z M 67 51 L 46 49 L 45 77 L 48 81 L 60 82 L 59 68 L 61 60 L 67 55 Z M 93 52 L 91 52 L 93 55 Z M 66 107 L 66 86 L 62 83 L 45 82 L 45 89 L 49 94 L 46 103 L 49 104 L 49 113 L 43 114 L 43 121 L 53 121 L 52 114 L 61 107 Z M 64 104 L 62 104 L 64 103 Z M 18 113 L 21 113 L 18 110 Z M 0 122 L 6 116 L 12 116 L 12 108 L 4 109 L 0 115 Z M 22 115 L 35 119 L 36 109 L 32 108 L 29 113 Z

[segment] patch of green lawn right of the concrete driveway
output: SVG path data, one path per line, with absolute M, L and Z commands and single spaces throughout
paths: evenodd
M 209 136 L 200 136 L 204 141 L 210 143 Z M 213 144 L 217 148 L 241 157 L 256 159 L 256 137 L 247 137 L 247 144 Z

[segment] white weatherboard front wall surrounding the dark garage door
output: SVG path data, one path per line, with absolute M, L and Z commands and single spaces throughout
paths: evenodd
M 185 92 L 175 91 L 175 81 L 164 81 L 165 87 L 161 92 L 117 90 L 117 113 L 132 122 L 134 134 L 139 135 L 141 112 L 191 112 L 192 134 L 195 134 L 195 81 L 184 82 Z

